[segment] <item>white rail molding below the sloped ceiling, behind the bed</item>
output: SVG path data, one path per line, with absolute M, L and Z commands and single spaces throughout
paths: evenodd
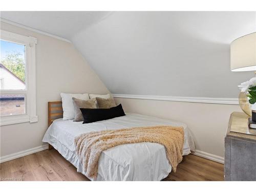
M 238 98 L 179 97 L 179 96 L 125 95 L 125 94 L 112 94 L 112 96 L 116 98 L 127 98 L 127 99 L 147 99 L 147 100 L 214 103 L 214 104 L 239 104 Z

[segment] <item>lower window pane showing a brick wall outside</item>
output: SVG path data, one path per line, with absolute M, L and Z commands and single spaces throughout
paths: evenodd
M 1 116 L 25 113 L 25 95 L 0 95 Z

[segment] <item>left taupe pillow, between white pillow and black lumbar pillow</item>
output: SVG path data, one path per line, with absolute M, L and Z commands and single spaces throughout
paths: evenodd
M 72 100 L 75 107 L 75 122 L 83 121 L 82 112 L 80 108 L 97 109 L 97 101 L 95 98 L 89 100 L 82 100 L 72 97 Z

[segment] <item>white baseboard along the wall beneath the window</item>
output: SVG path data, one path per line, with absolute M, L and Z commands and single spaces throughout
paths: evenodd
M 29 150 L 24 150 L 24 151 L 21 151 L 21 152 L 6 155 L 6 156 L 3 156 L 3 157 L 0 157 L 0 163 L 10 161 L 10 160 L 13 160 L 13 159 L 17 159 L 19 157 L 24 157 L 26 155 L 30 155 L 30 154 L 33 154 L 33 153 L 36 153 L 36 152 L 44 151 L 44 150 L 47 150 L 47 149 L 48 149 L 48 144 L 44 144 L 44 145 L 41 145 L 41 146 L 30 148 Z

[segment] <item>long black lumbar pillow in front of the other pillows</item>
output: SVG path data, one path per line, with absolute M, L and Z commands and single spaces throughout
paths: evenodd
M 119 104 L 110 109 L 80 109 L 83 116 L 83 123 L 92 123 L 124 116 L 122 105 Z

